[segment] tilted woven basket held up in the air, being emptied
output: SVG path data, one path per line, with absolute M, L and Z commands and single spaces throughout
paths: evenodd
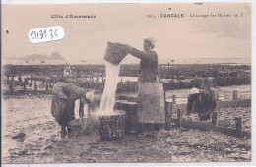
M 107 42 L 104 59 L 112 64 L 119 65 L 129 51 L 119 43 Z

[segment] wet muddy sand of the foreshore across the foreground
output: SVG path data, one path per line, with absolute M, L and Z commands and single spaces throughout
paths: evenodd
M 244 90 L 244 87 L 241 89 Z M 247 89 L 250 87 L 247 86 Z M 229 92 L 231 88 L 228 93 L 224 93 L 225 99 L 232 97 Z M 186 93 L 180 90 L 179 94 L 182 93 L 185 96 Z M 250 97 L 250 94 L 244 94 L 241 93 L 239 98 Z M 174 128 L 169 132 L 160 130 L 137 136 L 129 135 L 119 141 L 100 141 L 98 131 L 95 130 L 87 136 L 61 139 L 60 126 L 50 113 L 51 95 L 6 96 L 2 102 L 3 163 L 251 160 L 251 139 L 239 139 L 213 131 Z M 220 110 L 221 123 L 234 116 L 241 116 L 244 129 L 250 131 L 250 107 Z M 232 120 L 223 124 L 230 128 L 234 126 Z M 26 136 L 12 139 L 20 131 Z

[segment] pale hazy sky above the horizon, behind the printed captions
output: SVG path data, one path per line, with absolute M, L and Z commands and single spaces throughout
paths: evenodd
M 171 8 L 171 10 L 170 10 Z M 147 18 L 147 14 L 181 14 L 184 18 Z M 190 18 L 190 14 L 243 14 L 243 17 Z M 96 15 L 96 19 L 51 18 L 52 15 Z M 159 60 L 251 57 L 251 10 L 246 3 L 2 5 L 2 57 L 58 52 L 66 60 L 97 61 L 107 41 L 143 49 L 156 40 Z M 32 44 L 33 28 L 61 26 L 64 38 Z M 6 33 L 6 30 L 9 33 Z M 127 56 L 124 62 L 138 60 Z

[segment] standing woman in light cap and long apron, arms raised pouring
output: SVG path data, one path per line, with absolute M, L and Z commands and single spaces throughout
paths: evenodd
M 124 45 L 140 61 L 138 79 L 138 122 L 140 130 L 160 129 L 165 123 L 163 86 L 158 77 L 158 55 L 152 38 L 144 39 L 144 50 Z

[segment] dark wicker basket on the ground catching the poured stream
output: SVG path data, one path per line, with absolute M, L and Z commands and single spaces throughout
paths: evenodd
M 116 110 L 116 114 L 100 116 L 99 134 L 101 140 L 124 138 L 125 112 Z

